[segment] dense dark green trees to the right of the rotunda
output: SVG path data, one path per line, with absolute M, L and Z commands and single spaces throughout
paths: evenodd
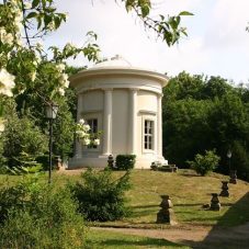
M 248 88 L 183 71 L 170 79 L 163 95 L 163 155 L 169 161 L 185 168 L 196 154 L 216 148 L 220 156 L 217 171 L 228 174 L 230 148 L 236 152 L 231 160 L 238 177 L 249 180 L 249 163 L 242 156 L 249 152 Z

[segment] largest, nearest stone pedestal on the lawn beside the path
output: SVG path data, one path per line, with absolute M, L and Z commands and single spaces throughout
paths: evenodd
M 176 225 L 176 215 L 172 210 L 173 204 L 171 203 L 169 195 L 161 195 L 161 210 L 157 214 L 157 223 L 168 223 L 170 225 Z

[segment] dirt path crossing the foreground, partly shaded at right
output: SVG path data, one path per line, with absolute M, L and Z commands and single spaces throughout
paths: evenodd
M 170 229 L 136 229 L 136 228 L 100 228 L 128 235 L 150 238 L 162 238 L 191 248 L 249 249 L 249 224 L 233 228 L 205 226 L 172 227 Z

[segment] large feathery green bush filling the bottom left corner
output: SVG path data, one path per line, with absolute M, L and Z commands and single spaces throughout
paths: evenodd
M 1 248 L 83 248 L 86 226 L 68 189 L 27 179 L 0 190 Z

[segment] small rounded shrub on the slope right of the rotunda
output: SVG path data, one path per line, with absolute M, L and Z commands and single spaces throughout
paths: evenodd
M 205 150 L 205 155 L 195 155 L 194 161 L 186 161 L 196 173 L 201 176 L 207 174 L 215 170 L 220 158 L 215 154 L 215 150 Z

